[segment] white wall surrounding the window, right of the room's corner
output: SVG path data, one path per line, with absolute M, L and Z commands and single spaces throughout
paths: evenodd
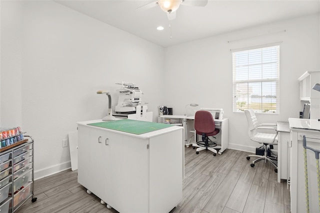
M 229 119 L 229 148 L 254 151 L 256 143 L 248 139 L 244 113 L 232 112 L 230 49 L 278 41 L 281 41 L 280 113 L 258 114 L 257 118 L 264 122 L 276 122 L 298 117 L 300 105 L 297 78 L 306 70 L 319 68 L 318 15 L 278 21 L 167 47 L 166 102 L 179 114 L 183 113 L 185 104 L 191 102 L 201 107 L 223 108 L 224 117 Z

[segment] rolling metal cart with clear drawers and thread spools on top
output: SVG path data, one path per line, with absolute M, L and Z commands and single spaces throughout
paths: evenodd
M 13 137 L 13 136 L 12 136 Z M 25 139 L 28 137 L 29 139 Z M 36 201 L 33 179 L 33 138 L 20 135 L 0 148 L 0 212 L 14 212 L 28 198 Z

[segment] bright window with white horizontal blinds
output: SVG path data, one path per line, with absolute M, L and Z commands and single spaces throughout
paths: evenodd
M 233 112 L 279 112 L 279 45 L 232 51 Z

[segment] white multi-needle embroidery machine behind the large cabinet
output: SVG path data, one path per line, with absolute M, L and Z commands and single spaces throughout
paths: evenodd
M 136 106 L 141 104 L 142 91 L 131 82 L 116 83 L 122 85 L 122 89 L 117 89 L 119 93 L 118 103 L 114 108 L 115 113 L 131 114 L 135 113 Z

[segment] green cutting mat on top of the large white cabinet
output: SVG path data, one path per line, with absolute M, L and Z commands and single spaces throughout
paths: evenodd
M 88 123 L 88 125 L 98 126 L 102 128 L 109 128 L 118 131 L 124 131 L 133 134 L 143 134 L 150 131 L 155 131 L 162 128 L 167 128 L 172 125 L 166 123 L 154 123 L 141 120 L 130 120 L 130 119 L 121 119 L 121 120 L 112 120 L 112 121 L 103 121 L 97 123 Z

